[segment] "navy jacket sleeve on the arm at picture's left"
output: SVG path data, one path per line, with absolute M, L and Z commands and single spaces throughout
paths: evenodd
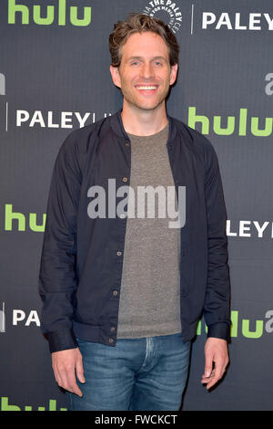
M 61 146 L 51 179 L 39 274 L 41 330 L 49 349 L 77 347 L 72 330 L 76 292 L 76 215 L 81 186 L 74 132 Z

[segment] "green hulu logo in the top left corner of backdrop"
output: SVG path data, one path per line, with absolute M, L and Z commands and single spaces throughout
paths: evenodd
M 66 8 L 66 0 L 58 0 L 57 12 L 56 5 L 46 5 L 46 13 L 42 14 L 41 6 L 33 5 L 33 21 L 37 26 L 51 26 L 57 20 L 58 26 L 66 26 Z M 30 6 L 17 4 L 16 0 L 8 0 L 8 24 L 15 24 L 21 18 L 21 24 L 28 25 L 29 9 Z M 70 16 L 72 26 L 89 26 L 91 7 L 84 7 L 83 17 L 78 17 L 78 6 L 70 6 L 69 9 L 70 14 L 67 15 Z

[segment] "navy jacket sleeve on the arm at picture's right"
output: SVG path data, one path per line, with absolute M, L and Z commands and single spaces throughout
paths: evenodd
M 212 145 L 207 152 L 207 290 L 204 317 L 207 337 L 230 340 L 230 281 L 227 265 L 227 213 L 217 154 Z

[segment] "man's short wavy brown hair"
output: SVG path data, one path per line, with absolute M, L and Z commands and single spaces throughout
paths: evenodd
M 134 33 L 145 31 L 151 31 L 161 36 L 168 47 L 170 65 L 174 66 L 178 63 L 179 45 L 177 37 L 167 24 L 157 18 L 133 13 L 127 17 L 126 21 L 118 21 L 114 26 L 113 33 L 109 36 L 109 50 L 113 67 L 120 66 L 120 49 L 126 43 L 127 38 Z

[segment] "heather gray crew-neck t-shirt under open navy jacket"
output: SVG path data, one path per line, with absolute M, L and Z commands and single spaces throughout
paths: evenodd
M 170 335 L 181 331 L 179 228 L 170 228 L 169 218 L 160 217 L 167 199 L 173 195 L 172 204 L 177 210 L 177 195 L 168 195 L 167 186 L 174 180 L 167 154 L 167 127 L 157 134 L 139 137 L 128 134 L 131 141 L 130 187 L 135 195 L 135 217 L 127 216 L 124 263 L 118 312 L 117 338 L 143 338 Z M 164 186 L 166 202 L 157 193 L 153 214 L 147 206 L 153 201 L 151 194 L 144 200 L 137 197 L 139 186 Z M 158 189 L 158 188 L 157 188 Z M 153 193 L 152 193 L 153 194 Z M 128 212 L 132 205 L 128 201 Z M 148 202 L 147 202 L 148 200 Z M 147 204 L 148 203 L 148 204 Z M 162 205 L 163 204 L 163 205 Z M 145 207 L 145 217 L 139 218 L 140 208 Z M 142 214 L 143 215 L 143 214 Z

